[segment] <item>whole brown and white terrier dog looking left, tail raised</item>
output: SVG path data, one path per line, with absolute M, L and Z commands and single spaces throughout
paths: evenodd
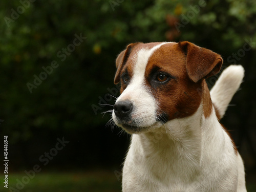
M 131 134 L 123 192 L 246 191 L 243 160 L 219 120 L 242 82 L 222 57 L 188 41 L 130 44 L 116 59 L 112 119 Z

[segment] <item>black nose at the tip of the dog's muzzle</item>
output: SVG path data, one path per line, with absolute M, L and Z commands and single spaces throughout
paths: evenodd
M 118 118 L 125 118 L 132 112 L 133 103 L 131 101 L 118 101 L 114 105 L 114 112 Z

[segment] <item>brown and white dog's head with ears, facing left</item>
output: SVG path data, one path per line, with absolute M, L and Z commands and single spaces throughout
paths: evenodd
M 130 44 L 116 59 L 114 83 L 121 95 L 114 122 L 128 133 L 147 132 L 175 118 L 193 115 L 207 77 L 217 74 L 220 55 L 190 42 Z

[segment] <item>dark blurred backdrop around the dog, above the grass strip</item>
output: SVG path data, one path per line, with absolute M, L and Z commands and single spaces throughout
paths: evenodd
M 131 42 L 188 40 L 221 54 L 223 68 L 245 68 L 221 122 L 244 159 L 247 182 L 255 183 L 255 1 L 3 0 L 0 7 L 0 129 L 8 135 L 10 177 L 39 164 L 44 173 L 104 170 L 121 185 L 116 174 L 130 136 L 107 124 L 111 113 L 102 113 L 112 107 L 101 105 L 119 95 L 115 58 Z M 38 84 L 30 91 L 28 83 Z M 39 157 L 62 137 L 69 143 L 43 165 Z

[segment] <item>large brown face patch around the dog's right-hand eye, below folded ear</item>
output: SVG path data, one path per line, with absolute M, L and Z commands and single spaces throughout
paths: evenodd
M 193 115 L 201 102 L 201 93 L 197 92 L 201 83 L 189 79 L 186 56 L 178 44 L 161 46 L 148 60 L 145 79 L 149 88 L 152 88 L 151 72 L 155 68 L 173 76 L 163 86 L 151 89 L 159 103 L 157 113 L 164 114 L 167 120 Z

